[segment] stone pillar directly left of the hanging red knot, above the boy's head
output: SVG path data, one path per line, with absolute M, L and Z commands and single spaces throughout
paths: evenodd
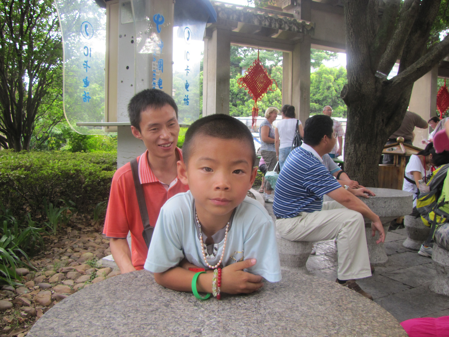
M 229 115 L 231 31 L 216 27 L 204 40 L 202 115 Z

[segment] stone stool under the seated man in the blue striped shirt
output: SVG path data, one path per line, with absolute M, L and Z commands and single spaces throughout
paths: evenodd
M 276 231 L 277 247 L 279 248 L 279 260 L 281 269 L 297 271 L 309 275 L 306 263 L 312 252 L 312 242 L 308 241 L 290 241 L 282 239 Z

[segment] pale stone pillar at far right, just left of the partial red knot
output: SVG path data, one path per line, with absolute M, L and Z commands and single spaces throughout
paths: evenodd
M 426 75 L 417 80 L 413 85 L 412 96 L 409 102 L 409 111 L 413 111 L 429 120 L 435 116 L 436 94 L 438 93 L 436 80 L 438 79 L 438 66 L 429 71 Z M 415 138 L 413 145 L 423 148 L 421 140 L 429 137 L 429 130 L 415 128 Z

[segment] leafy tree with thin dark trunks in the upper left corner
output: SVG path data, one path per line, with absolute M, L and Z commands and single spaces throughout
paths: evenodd
M 0 144 L 28 150 L 38 120 L 59 104 L 62 44 L 51 0 L 0 0 Z M 51 112 L 51 130 L 62 114 Z

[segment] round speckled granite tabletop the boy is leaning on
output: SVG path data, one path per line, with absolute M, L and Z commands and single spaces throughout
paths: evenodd
M 262 289 L 200 301 L 133 271 L 70 295 L 27 336 L 407 336 L 377 303 L 325 279 L 282 270 Z

